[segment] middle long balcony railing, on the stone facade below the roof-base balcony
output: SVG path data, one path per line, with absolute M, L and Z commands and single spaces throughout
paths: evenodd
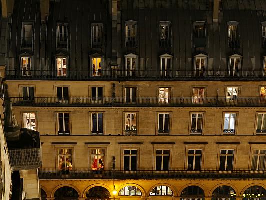
M 194 101 L 194 98 L 136 98 L 134 103 L 126 102 L 123 97 L 105 97 L 102 100 L 94 100 L 87 97 L 69 97 L 68 100 L 61 101 L 56 97 L 34 97 L 31 100 L 24 100 L 23 97 L 11 97 L 13 106 L 169 106 L 169 107 L 265 107 L 266 101 L 261 98 L 202 98 L 202 101 Z M 197 98 L 198 99 L 198 98 Z

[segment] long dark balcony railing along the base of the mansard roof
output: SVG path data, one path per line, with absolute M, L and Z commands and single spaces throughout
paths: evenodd
M 100 75 L 93 72 L 93 70 L 7 70 L 7 79 L 74 79 L 74 80 L 93 80 L 93 79 L 191 79 L 191 80 L 205 80 L 205 79 L 254 79 L 264 78 L 263 70 L 238 70 L 237 75 L 231 75 L 230 71 L 224 70 L 204 70 L 198 75 L 196 70 L 138 70 L 135 69 L 131 73 L 127 70 L 100 70 Z M 29 75 L 25 75 L 29 74 Z M 201 75 L 202 74 L 202 75 Z

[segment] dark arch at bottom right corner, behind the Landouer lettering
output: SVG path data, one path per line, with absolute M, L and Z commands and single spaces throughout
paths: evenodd
M 241 196 L 243 200 L 266 200 L 266 189 L 261 186 L 254 185 L 247 188 Z

